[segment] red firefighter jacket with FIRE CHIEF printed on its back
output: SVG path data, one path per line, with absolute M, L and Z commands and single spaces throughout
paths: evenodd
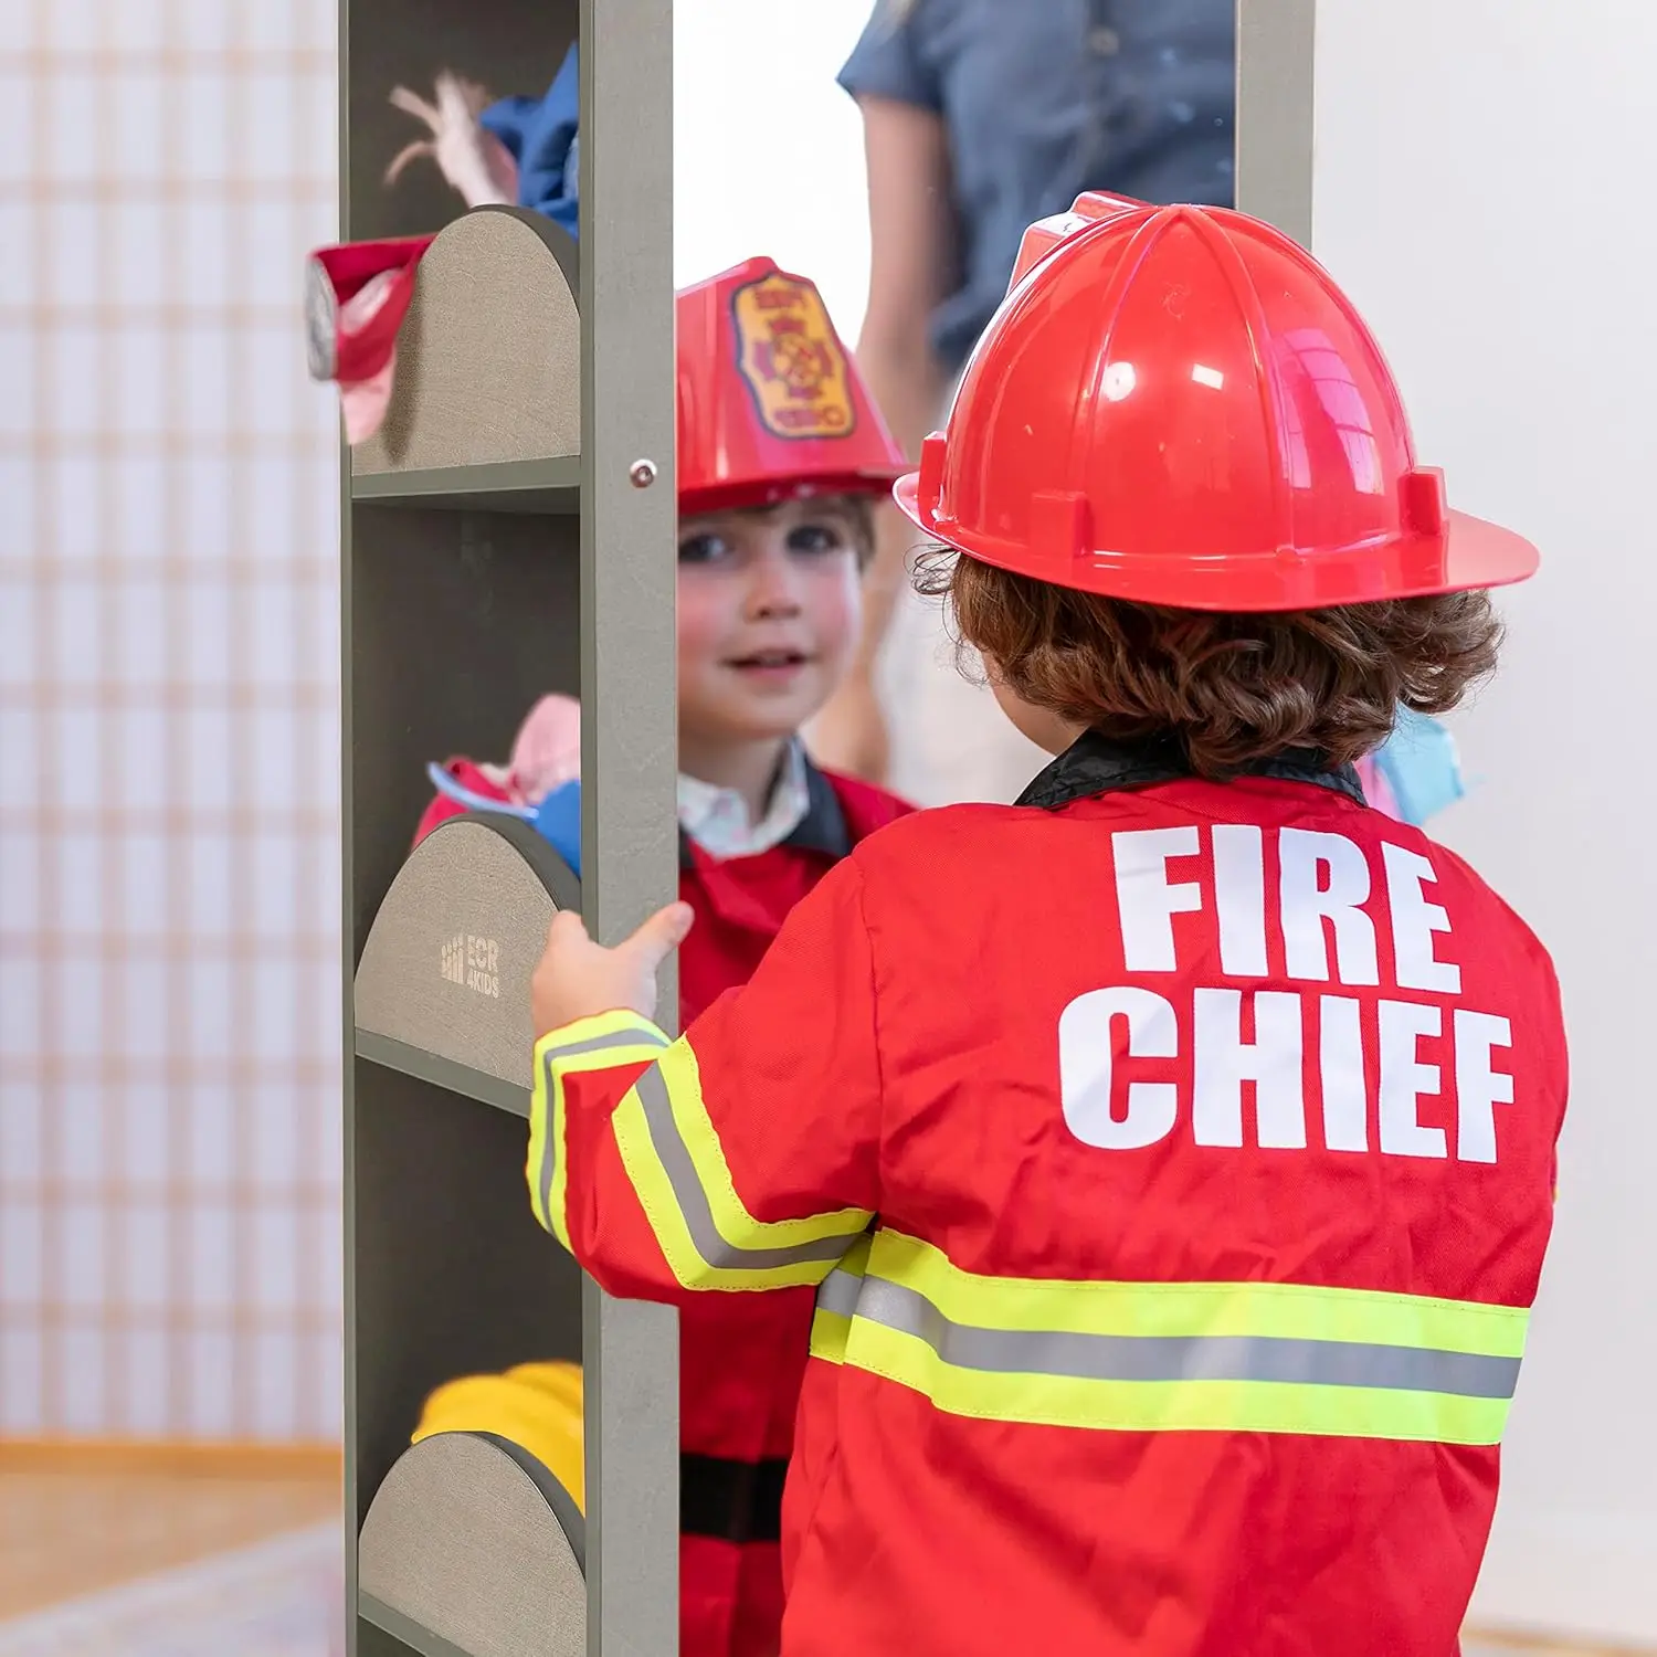
M 858 847 L 679 1041 L 539 1046 L 532 1201 L 611 1292 L 819 1286 L 784 1657 L 1457 1650 L 1553 968 L 1349 771 L 1183 772 L 1087 736 Z

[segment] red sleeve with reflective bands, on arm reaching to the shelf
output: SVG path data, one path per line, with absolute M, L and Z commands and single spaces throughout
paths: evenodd
M 542 1037 L 535 1215 L 611 1294 L 820 1283 L 878 1208 L 880 1060 L 855 863 L 676 1042 L 630 1012 Z

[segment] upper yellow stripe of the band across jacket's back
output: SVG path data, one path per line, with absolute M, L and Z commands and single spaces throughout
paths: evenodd
M 870 1273 L 925 1294 L 944 1317 L 989 1329 L 1117 1336 L 1263 1336 L 1523 1357 L 1523 1307 L 1296 1283 L 1062 1283 L 984 1278 L 895 1231 Z

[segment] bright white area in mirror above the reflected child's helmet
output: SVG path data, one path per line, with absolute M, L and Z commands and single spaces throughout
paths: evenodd
M 679 0 L 674 272 L 769 254 L 810 277 L 850 345 L 868 283 L 863 124 L 835 75 L 872 0 Z

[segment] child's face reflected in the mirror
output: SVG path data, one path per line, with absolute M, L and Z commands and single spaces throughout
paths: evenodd
M 679 520 L 679 732 L 792 736 L 845 676 L 862 621 L 860 527 L 833 497 Z

